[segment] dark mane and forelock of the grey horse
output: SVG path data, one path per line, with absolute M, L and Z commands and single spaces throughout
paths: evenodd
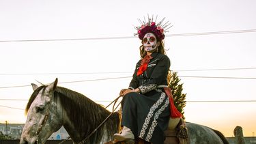
M 35 89 L 29 98 L 29 102 L 27 103 L 26 113 L 31 106 L 33 100 L 38 95 L 38 93 L 46 88 L 46 85 L 42 85 Z M 66 89 L 65 87 L 56 87 L 55 93 L 53 96 L 54 102 L 60 102 L 63 109 L 65 109 L 70 121 L 74 124 L 77 132 L 80 133 L 81 136 L 85 138 L 88 136 L 96 127 L 100 125 L 102 121 L 110 114 L 109 111 L 104 109 L 100 104 L 96 104 L 94 101 L 90 100 L 83 94 L 78 93 L 76 91 L 72 91 L 70 89 Z M 118 113 L 113 113 L 109 120 L 106 121 L 106 130 L 109 132 L 109 136 L 113 132 L 111 130 L 117 130 L 119 126 L 119 115 Z M 96 141 L 100 141 L 100 138 L 103 134 L 103 127 L 101 126 L 96 134 L 92 135 L 90 139 L 91 143 L 98 143 Z

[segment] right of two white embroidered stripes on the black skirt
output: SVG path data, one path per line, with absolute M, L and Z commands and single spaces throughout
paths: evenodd
M 169 102 L 169 98 L 167 98 L 167 100 L 165 100 L 165 104 L 162 105 L 161 109 L 159 109 L 159 110 L 156 112 L 156 114 L 155 114 L 155 116 L 154 116 L 154 121 L 152 122 L 152 125 L 151 125 L 151 127 L 150 127 L 150 130 L 149 130 L 149 132 L 147 133 L 147 137 L 146 137 L 145 141 L 150 141 L 150 139 L 151 139 L 151 137 L 152 137 L 152 134 L 153 134 L 153 132 L 154 132 L 154 130 L 155 130 L 155 128 L 156 128 L 156 125 L 158 124 L 157 119 L 158 119 L 159 115 L 162 113 L 162 111 L 165 111 L 165 109 L 167 108 L 167 106 L 168 106 L 169 103 L 170 103 L 170 102 Z

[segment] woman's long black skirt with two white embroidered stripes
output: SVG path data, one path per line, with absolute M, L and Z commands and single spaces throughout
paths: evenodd
M 127 93 L 122 101 L 122 126 L 151 143 L 164 143 L 169 124 L 169 98 L 165 92 Z

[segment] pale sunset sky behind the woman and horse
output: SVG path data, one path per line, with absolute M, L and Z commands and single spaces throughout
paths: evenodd
M 0 0 L 0 123 L 25 123 L 30 84 L 56 77 L 59 86 L 109 104 L 128 87 L 140 58 L 141 42 L 133 36 L 137 18 L 154 14 L 173 25 L 165 48 L 187 93 L 186 121 L 225 136 L 242 126 L 244 136 L 253 136 L 255 5 L 254 0 Z

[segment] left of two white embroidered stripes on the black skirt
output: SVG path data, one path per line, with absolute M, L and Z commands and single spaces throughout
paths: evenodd
M 144 121 L 143 127 L 141 128 L 141 132 L 139 134 L 139 137 L 143 139 L 143 136 L 145 135 L 145 130 L 148 127 L 148 124 L 150 124 L 150 119 L 154 115 L 154 111 L 160 106 L 160 104 L 164 101 L 165 99 L 165 93 L 161 93 L 160 98 L 156 101 L 156 103 L 153 104 L 153 106 L 150 108 L 150 112 L 147 113 L 147 118 Z

